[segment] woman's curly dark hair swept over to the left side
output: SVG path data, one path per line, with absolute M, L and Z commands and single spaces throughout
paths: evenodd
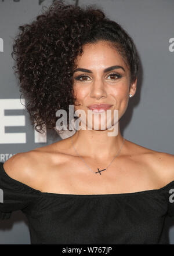
M 25 107 L 38 132 L 55 129 L 56 111 L 64 109 L 68 113 L 69 105 L 74 105 L 75 59 L 82 55 L 85 44 L 99 40 L 111 43 L 128 65 L 131 82 L 137 78 L 139 57 L 132 38 L 96 5 L 81 8 L 54 1 L 19 30 L 12 52 L 14 74 L 19 78 L 20 97 L 27 99 Z

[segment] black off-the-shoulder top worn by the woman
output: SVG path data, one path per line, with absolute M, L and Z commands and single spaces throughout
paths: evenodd
M 124 194 L 40 192 L 6 174 L 0 163 L 0 218 L 21 210 L 31 244 L 166 244 L 164 222 L 174 216 L 169 196 L 174 181 L 161 189 Z

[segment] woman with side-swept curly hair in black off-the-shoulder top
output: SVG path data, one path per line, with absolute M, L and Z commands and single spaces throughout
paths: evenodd
M 131 37 L 102 10 L 62 1 L 20 30 L 13 56 L 37 131 L 55 129 L 56 111 L 68 113 L 70 105 L 85 117 L 73 136 L 1 163 L 1 218 L 22 210 L 31 244 L 167 243 L 162 230 L 174 215 L 173 155 L 136 145 L 119 129 L 137 86 Z M 107 109 L 110 122 L 102 129 Z M 111 126 L 118 128 L 114 136 Z

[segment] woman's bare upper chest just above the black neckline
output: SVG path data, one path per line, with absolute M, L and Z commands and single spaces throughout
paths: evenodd
M 52 165 L 49 172 L 42 172 L 45 175 L 42 176 L 41 190 L 65 194 L 111 194 L 160 188 L 157 176 L 146 163 L 115 159 L 110 167 L 107 166 L 108 161 L 99 163 L 86 158 L 84 163 L 78 157 L 62 159 Z

